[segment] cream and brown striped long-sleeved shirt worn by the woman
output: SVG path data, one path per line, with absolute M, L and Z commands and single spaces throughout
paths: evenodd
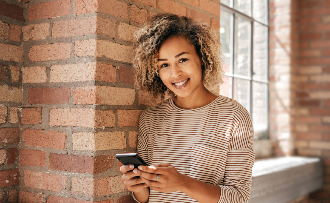
M 251 117 L 237 101 L 220 95 L 206 106 L 181 109 L 167 99 L 141 114 L 137 152 L 148 165 L 170 163 L 182 174 L 219 185 L 218 202 L 247 203 L 253 142 Z M 150 189 L 149 203 L 155 202 L 197 201 L 183 192 Z

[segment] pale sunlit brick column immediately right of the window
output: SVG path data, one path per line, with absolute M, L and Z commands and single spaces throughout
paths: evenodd
M 291 116 L 304 114 L 296 108 L 295 94 L 297 33 L 296 1 L 269 1 L 269 105 L 270 139 L 274 154 L 293 155 L 294 130 Z

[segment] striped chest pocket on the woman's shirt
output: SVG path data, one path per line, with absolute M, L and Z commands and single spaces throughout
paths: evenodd
M 226 150 L 193 144 L 189 176 L 214 185 L 222 183 L 226 157 Z

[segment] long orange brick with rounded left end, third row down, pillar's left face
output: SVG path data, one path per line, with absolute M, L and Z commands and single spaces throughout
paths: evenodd
M 36 45 L 30 48 L 28 57 L 32 62 L 58 60 L 71 57 L 71 43 Z

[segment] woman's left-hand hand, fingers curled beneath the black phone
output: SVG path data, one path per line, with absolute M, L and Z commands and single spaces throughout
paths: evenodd
M 131 192 L 140 192 L 143 188 L 148 187 L 147 184 L 144 183 L 144 181 L 141 178 L 134 178 L 136 176 L 139 176 L 135 173 L 133 173 L 134 166 L 133 165 L 123 165 L 120 167 L 120 171 L 123 173 L 122 179 L 124 181 L 124 184 Z M 126 177 L 127 175 L 127 177 Z

